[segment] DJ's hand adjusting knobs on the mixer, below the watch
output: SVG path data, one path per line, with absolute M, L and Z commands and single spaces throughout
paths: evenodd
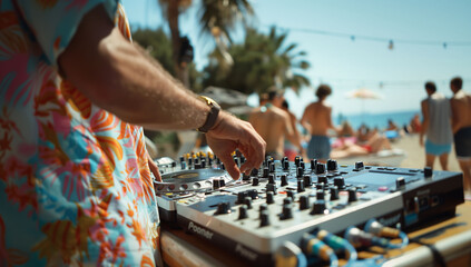
M 252 125 L 224 111 L 219 112 L 215 126 L 206 134 L 206 138 L 214 154 L 235 180 L 239 178 L 241 172 L 248 175 L 252 169 L 258 168 L 265 158 L 266 144 Z M 232 152 L 236 149 L 247 158 L 241 169 L 232 157 Z

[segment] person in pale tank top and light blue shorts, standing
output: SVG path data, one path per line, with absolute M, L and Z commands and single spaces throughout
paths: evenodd
M 422 128 L 420 145 L 425 140 L 425 166 L 433 168 L 435 157 L 439 157 L 443 170 L 448 170 L 448 157 L 451 151 L 453 136 L 451 132 L 450 101 L 440 92 L 432 81 L 425 82 L 428 97 L 422 100 Z

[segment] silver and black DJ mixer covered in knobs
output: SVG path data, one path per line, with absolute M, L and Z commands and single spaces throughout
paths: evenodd
M 241 166 L 245 158 L 234 160 Z M 279 264 L 286 255 L 303 263 L 300 257 L 323 244 L 308 239 L 321 238 L 320 233 L 324 241 L 328 233 L 354 244 L 365 237 L 356 227 L 371 230 L 371 221 L 404 230 L 439 215 L 452 216 L 464 201 L 462 174 L 430 168 L 268 157 L 259 169 L 235 181 L 213 155 L 157 164 L 163 172 L 163 182 L 155 184 L 161 219 L 253 266 Z

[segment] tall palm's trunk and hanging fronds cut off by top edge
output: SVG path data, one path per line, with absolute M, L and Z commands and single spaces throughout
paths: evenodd
M 188 75 L 186 63 L 180 62 L 181 37 L 178 24 L 178 16 L 184 12 L 190 4 L 192 0 L 158 0 L 163 7 L 165 17 L 170 28 L 173 43 L 173 60 L 175 63 L 176 77 L 188 85 Z M 229 32 L 235 28 L 236 22 L 241 19 L 246 21 L 253 16 L 252 6 L 247 0 L 200 0 L 199 23 L 202 32 L 209 33 L 214 37 L 216 46 L 227 58 L 226 41 L 230 41 Z

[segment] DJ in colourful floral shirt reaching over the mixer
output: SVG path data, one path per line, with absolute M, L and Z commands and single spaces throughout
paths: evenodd
M 3 0 L 0 18 L 0 266 L 161 265 L 143 126 L 206 132 L 234 179 L 262 164 L 248 122 L 130 42 L 119 1 Z

